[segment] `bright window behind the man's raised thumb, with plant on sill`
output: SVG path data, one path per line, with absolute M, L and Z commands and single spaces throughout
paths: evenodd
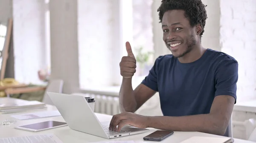
M 154 63 L 152 3 L 153 0 L 78 1 L 81 89 L 121 84 L 119 62 L 127 55 L 126 41 L 131 42 L 137 58 L 134 76 L 143 78 L 148 74 Z M 95 5 L 97 9 L 93 8 Z

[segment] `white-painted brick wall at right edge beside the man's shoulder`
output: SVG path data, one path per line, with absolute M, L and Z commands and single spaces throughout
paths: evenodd
M 239 62 L 238 101 L 256 97 L 256 0 L 221 0 L 221 51 Z

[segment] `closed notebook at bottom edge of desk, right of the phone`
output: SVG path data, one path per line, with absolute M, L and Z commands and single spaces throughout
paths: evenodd
M 233 143 L 230 137 L 190 137 L 180 143 Z

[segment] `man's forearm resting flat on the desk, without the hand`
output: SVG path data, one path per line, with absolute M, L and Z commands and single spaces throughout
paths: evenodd
M 226 129 L 225 123 L 210 114 L 148 117 L 148 127 L 172 131 L 205 132 L 215 135 L 224 135 Z

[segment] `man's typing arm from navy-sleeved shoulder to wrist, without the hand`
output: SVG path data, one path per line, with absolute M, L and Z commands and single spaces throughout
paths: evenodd
M 209 114 L 183 117 L 152 117 L 149 127 L 176 131 L 198 131 L 224 135 L 236 103 L 238 63 L 228 58 L 218 63 L 215 70 L 215 98 Z

